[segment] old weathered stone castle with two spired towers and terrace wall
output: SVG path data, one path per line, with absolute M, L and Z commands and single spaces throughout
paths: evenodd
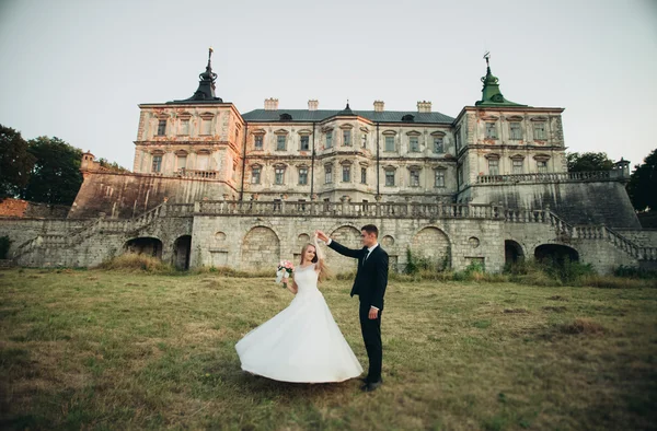
M 189 97 L 139 105 L 131 173 L 84 153 L 66 219 L 4 219 L 26 266 L 91 266 L 126 252 L 178 268 L 274 267 L 313 231 L 358 247 L 374 223 L 393 269 L 406 251 L 463 269 L 500 271 L 525 257 L 564 257 L 608 272 L 657 265 L 625 193 L 629 163 L 568 173 L 560 107 L 505 98 L 486 58 L 482 98 L 456 117 L 416 110 L 287 109 L 241 114 L 216 95 L 211 50 Z M 330 254 L 338 270 L 354 263 Z

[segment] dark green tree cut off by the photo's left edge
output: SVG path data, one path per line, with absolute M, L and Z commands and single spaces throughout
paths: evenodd
M 21 195 L 35 160 L 21 132 L 0 125 L 0 199 Z

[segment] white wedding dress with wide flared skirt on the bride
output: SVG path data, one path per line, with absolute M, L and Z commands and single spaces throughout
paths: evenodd
M 281 382 L 343 382 L 362 366 L 318 289 L 314 264 L 297 268 L 290 305 L 237 345 L 242 370 Z

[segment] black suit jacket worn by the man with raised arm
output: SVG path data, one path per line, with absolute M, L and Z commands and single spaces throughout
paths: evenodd
M 328 247 L 343 256 L 358 259 L 358 271 L 351 288 L 351 296 L 357 294 L 361 304 L 366 304 L 368 307 L 373 305 L 382 311 L 383 295 L 388 286 L 388 253 L 381 248 L 381 244 L 372 251 L 365 264 L 367 247 L 360 249 L 347 248 L 333 240 L 331 240 Z

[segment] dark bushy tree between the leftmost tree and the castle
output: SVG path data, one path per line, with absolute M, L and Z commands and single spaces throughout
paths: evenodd
M 28 141 L 27 151 L 36 158 L 24 199 L 48 205 L 71 205 L 82 185 L 82 150 L 59 138 L 41 137 Z

